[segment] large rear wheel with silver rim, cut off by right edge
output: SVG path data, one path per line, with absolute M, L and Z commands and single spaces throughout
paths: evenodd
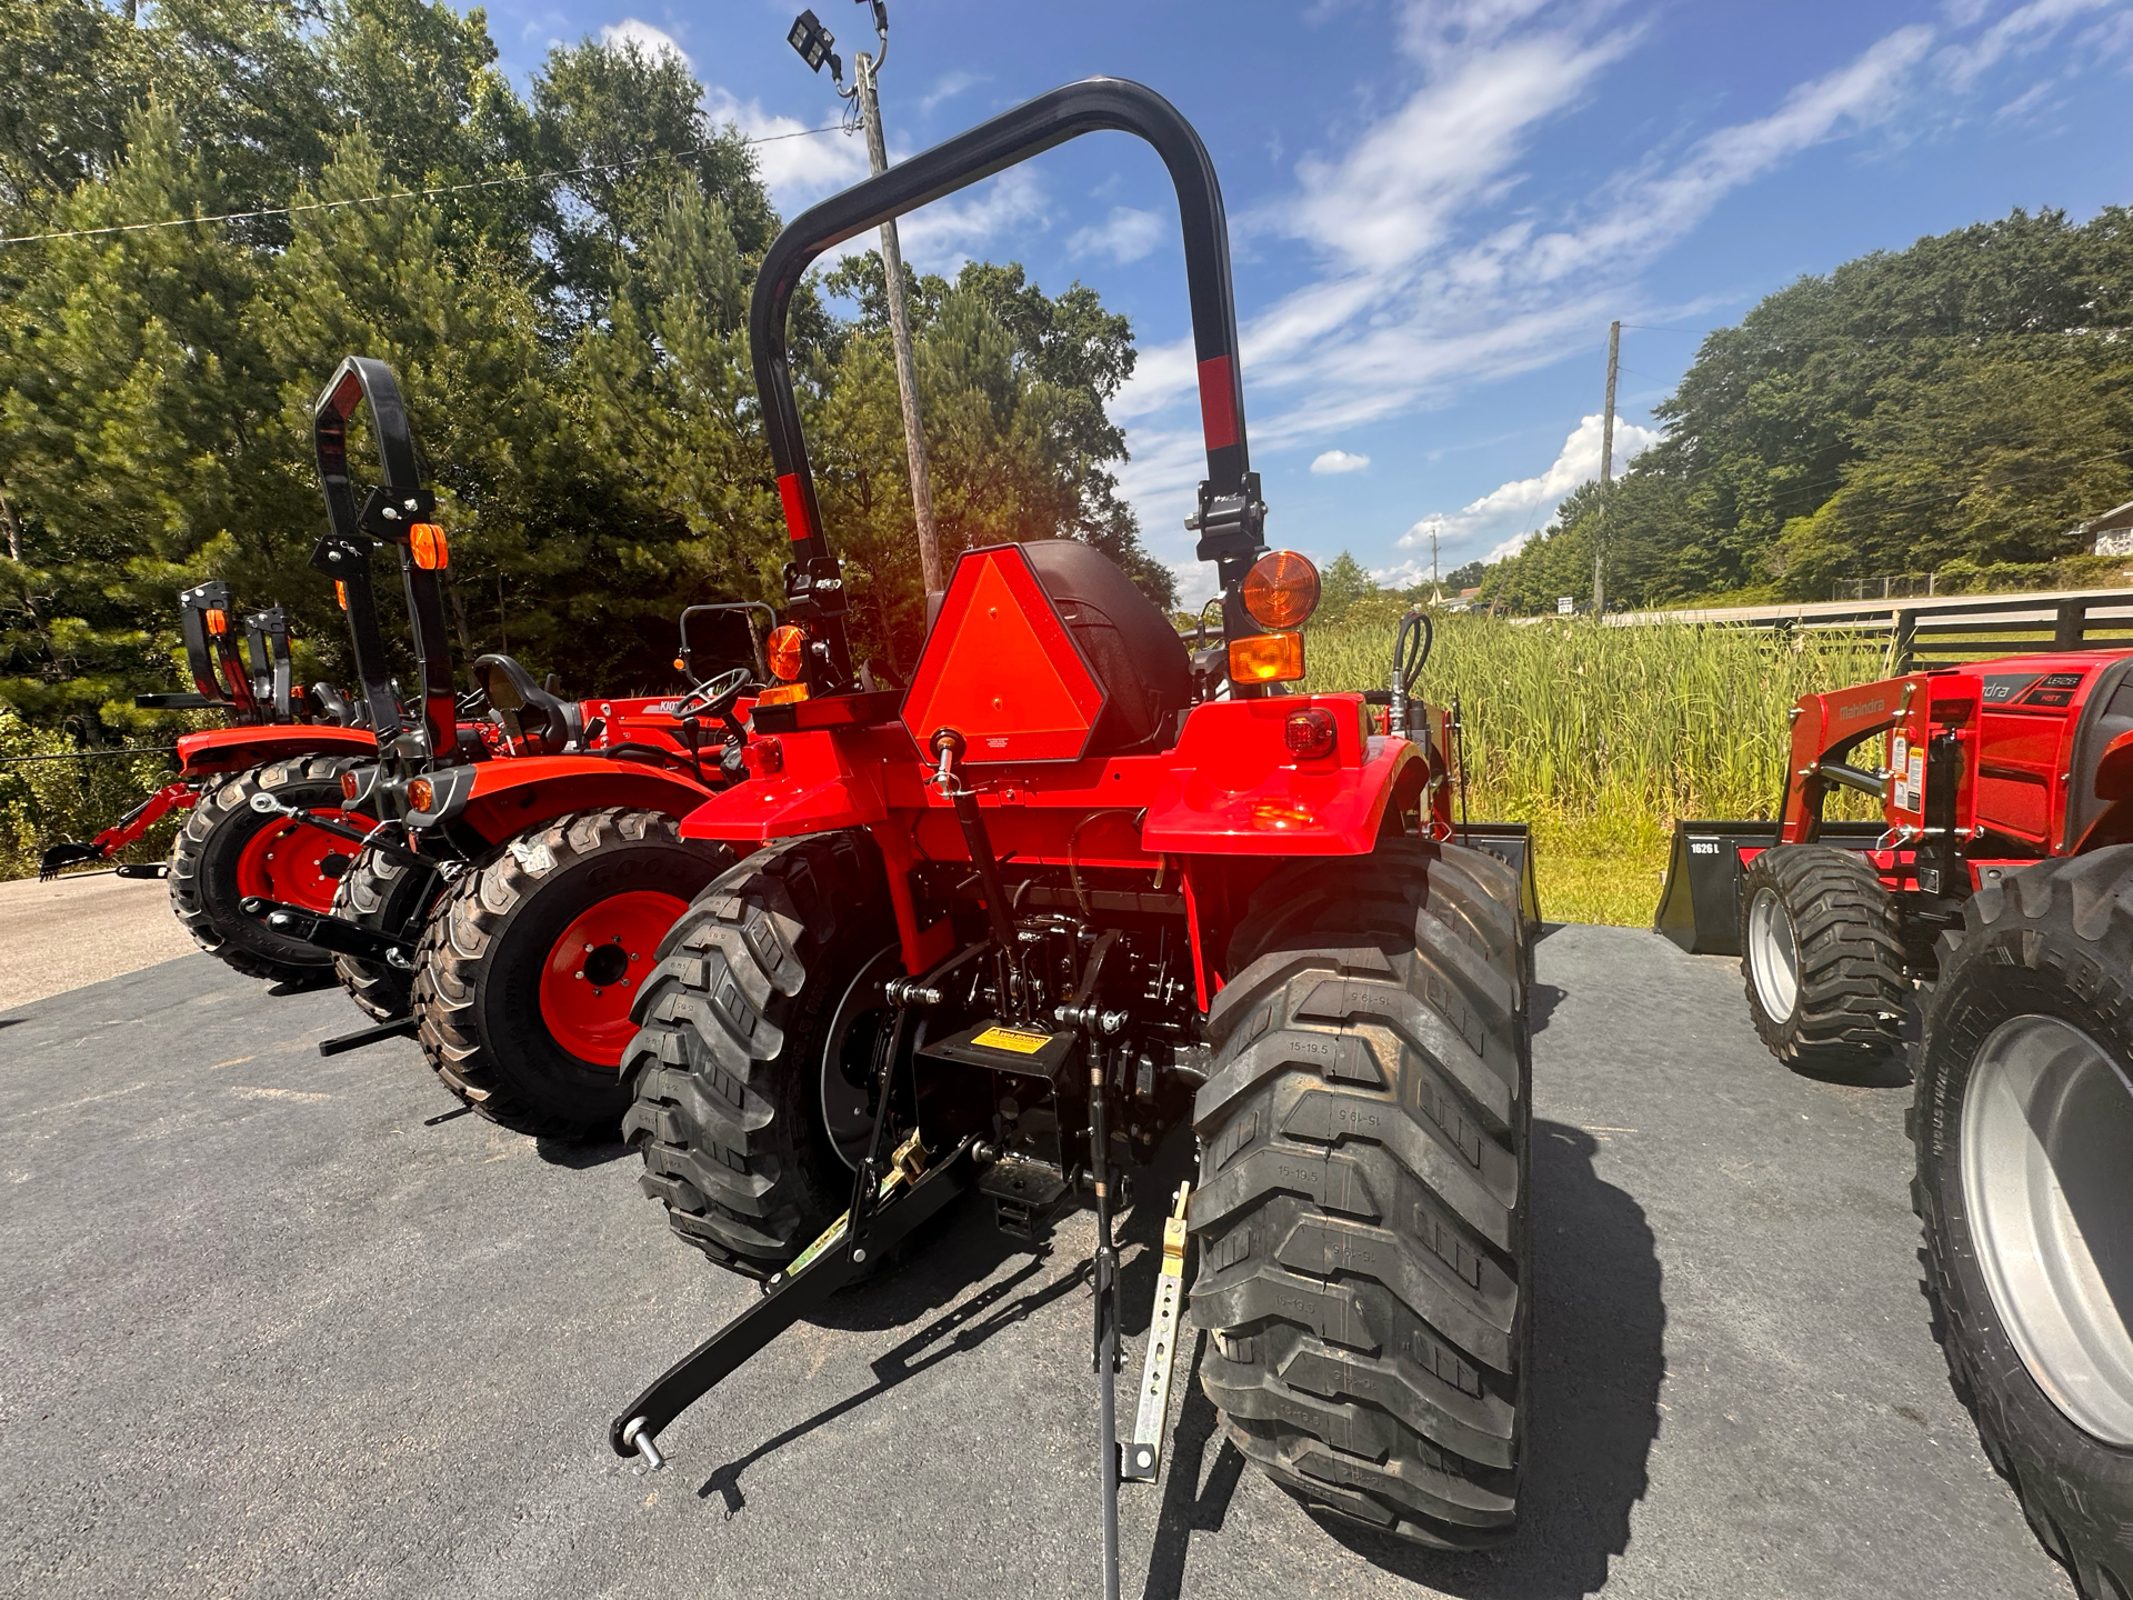
M 1956 1393 L 2086 1600 L 2133 1596 L 2129 1073 L 2133 845 L 1975 894 L 1924 1005 L 1911 1197 Z

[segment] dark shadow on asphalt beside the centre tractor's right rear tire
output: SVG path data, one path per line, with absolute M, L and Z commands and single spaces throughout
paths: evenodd
M 1666 1299 L 1645 1207 L 1593 1171 L 1598 1148 L 1583 1129 L 1534 1122 L 1531 1431 L 1517 1540 L 1442 1555 L 1320 1519 L 1374 1566 L 1461 1600 L 1557 1600 L 1604 1589 L 1608 1557 L 1630 1547 L 1659 1436 Z M 1171 1470 L 1182 1466 L 1184 1451 Z M 1162 1553 L 1158 1536 L 1158 1564 Z M 1148 1589 L 1150 1600 L 1175 1594 Z

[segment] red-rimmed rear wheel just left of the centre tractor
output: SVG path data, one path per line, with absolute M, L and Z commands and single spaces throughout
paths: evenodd
M 674 817 L 616 806 L 527 830 L 463 875 L 414 971 L 422 1054 L 444 1086 L 516 1133 L 614 1139 L 629 1109 L 629 1003 L 668 930 L 732 862 L 725 845 L 683 843 Z

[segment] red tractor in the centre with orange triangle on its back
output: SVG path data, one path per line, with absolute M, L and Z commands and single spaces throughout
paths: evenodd
M 1152 143 L 1177 192 L 1207 446 L 1192 527 L 1222 644 L 1194 676 L 1105 555 L 1005 544 L 956 563 L 909 691 L 868 691 L 800 435 L 789 299 L 836 241 L 1096 130 Z M 1120 1472 L 1158 1470 L 1188 1229 L 1203 1378 L 1239 1451 L 1401 1538 L 1506 1538 L 1536 909 L 1512 866 L 1457 843 L 1455 751 L 1440 717 L 1410 719 L 1410 674 L 1386 691 L 1389 736 L 1365 695 L 1297 687 L 1318 582 L 1263 540 L 1199 134 L 1137 83 L 1054 90 L 798 218 L 764 258 L 749 337 L 798 674 L 755 706 L 749 783 L 683 823 L 757 853 L 659 947 L 625 1129 L 674 1231 L 766 1293 L 614 1419 L 614 1451 L 657 1466 L 685 1406 L 951 1197 L 983 1195 L 1022 1239 L 1092 1199 L 1113 1594 Z M 1199 1173 L 1122 1459 L 1111 1225 L 1184 1124 Z

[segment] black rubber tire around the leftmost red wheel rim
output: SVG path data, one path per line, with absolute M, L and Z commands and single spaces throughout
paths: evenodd
M 201 791 L 186 826 L 171 843 L 171 911 L 209 956 L 245 977 L 269 983 L 326 983 L 333 956 L 290 939 L 239 909 L 237 858 L 260 828 L 277 817 L 252 811 L 252 796 L 273 794 L 296 806 L 341 806 L 341 772 L 363 762 L 301 755 L 239 772 Z M 354 849 L 350 845 L 350 849 Z M 346 879 L 343 879 L 346 881 Z

